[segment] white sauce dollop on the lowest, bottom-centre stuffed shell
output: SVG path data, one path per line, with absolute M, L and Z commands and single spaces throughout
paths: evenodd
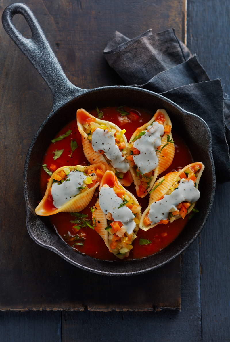
M 130 234 L 136 227 L 136 223 L 133 221 L 135 216 L 126 205 L 118 209 L 122 203 L 123 199 L 117 196 L 113 188 L 107 184 L 101 187 L 99 192 L 99 205 L 101 210 L 105 215 L 111 213 L 114 221 L 122 222 L 127 228 L 126 232 Z

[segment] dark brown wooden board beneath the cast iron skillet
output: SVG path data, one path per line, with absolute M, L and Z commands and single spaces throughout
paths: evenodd
M 1 12 L 12 2 L 3 0 Z M 67 77 L 82 88 L 122 83 L 108 67 L 102 53 L 115 29 L 133 38 L 150 27 L 156 32 L 173 25 L 181 37 L 182 0 L 154 3 L 119 0 L 116 4 L 105 0 L 25 2 L 37 16 Z M 15 16 L 14 23 L 25 37 L 30 37 L 22 16 Z M 89 310 L 179 309 L 180 259 L 142 278 L 100 277 L 75 268 L 29 237 L 25 223 L 23 167 L 29 144 L 49 113 L 52 95 L 2 26 L 0 34 L 0 148 L 3 151 L 0 163 L 7 174 L 2 181 L 0 199 L 1 310 L 84 310 L 85 305 Z M 139 285 L 138 279 L 140 282 L 148 280 L 150 297 L 144 293 L 145 284 Z M 137 297 L 133 297 L 138 299 L 135 305 L 133 300 L 125 302 L 125 298 L 123 302 L 106 304 L 104 291 L 111 283 L 115 292 L 116 286 L 131 287 L 132 282 L 137 288 Z

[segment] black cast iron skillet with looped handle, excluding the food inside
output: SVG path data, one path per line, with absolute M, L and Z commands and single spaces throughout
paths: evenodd
M 24 38 L 15 28 L 12 18 L 22 14 L 32 38 Z M 24 192 L 27 207 L 27 228 L 31 238 L 40 246 L 50 249 L 75 266 L 88 271 L 110 275 L 128 276 L 149 272 L 180 255 L 196 239 L 204 227 L 212 208 L 215 193 L 215 171 L 212 156 L 211 133 L 207 124 L 167 98 L 148 90 L 128 86 L 100 87 L 85 90 L 75 87 L 66 78 L 44 33 L 30 8 L 22 3 L 8 6 L 2 23 L 15 44 L 38 70 L 53 93 L 53 105 L 47 119 L 38 129 L 30 147 L 24 169 Z M 200 182 L 199 214 L 189 221 L 181 234 L 165 249 L 148 258 L 130 261 L 102 261 L 82 255 L 69 247 L 54 231 L 47 217 L 37 216 L 37 200 L 41 200 L 39 176 L 41 162 L 51 139 L 68 122 L 76 118 L 76 110 L 127 104 L 155 113 L 164 108 L 172 124 L 188 144 L 194 161 L 202 161 L 205 169 Z M 199 114 L 199 113 L 198 113 Z M 184 165 L 182 165 L 184 166 Z

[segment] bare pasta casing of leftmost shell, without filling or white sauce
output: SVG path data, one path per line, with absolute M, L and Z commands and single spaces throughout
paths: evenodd
M 97 182 L 94 184 L 94 186 L 92 186 L 91 188 L 89 188 L 88 190 L 86 190 L 84 193 L 80 193 L 77 196 L 71 198 L 68 202 L 66 202 L 60 209 L 56 208 L 54 210 L 46 210 L 46 206 L 45 206 L 45 202 L 48 198 L 48 192 L 49 192 L 49 188 L 52 187 L 53 184 L 53 177 L 55 176 L 56 173 L 62 171 L 65 168 L 75 168 L 76 166 L 63 166 L 59 169 L 57 169 L 52 176 L 50 177 L 50 180 L 48 182 L 47 185 L 47 189 L 46 189 L 46 193 L 44 194 L 44 197 L 42 198 L 41 202 L 39 203 L 39 205 L 37 206 L 37 208 L 35 209 L 35 212 L 37 215 L 41 215 L 41 216 L 49 216 L 49 215 L 54 215 L 60 211 L 64 211 L 64 212 L 78 212 L 83 210 L 84 208 L 86 208 L 89 204 L 89 202 L 91 201 L 93 194 L 97 188 L 97 186 L 100 184 L 101 179 L 98 178 Z M 89 168 L 95 167 L 100 168 L 103 172 L 105 172 L 105 166 L 101 163 L 97 163 L 94 165 L 90 165 L 85 167 L 85 172 L 87 173 Z

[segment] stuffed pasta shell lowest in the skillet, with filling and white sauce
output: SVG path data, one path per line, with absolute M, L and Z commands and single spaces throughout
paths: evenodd
M 128 257 L 132 241 L 137 237 L 141 207 L 112 171 L 106 171 L 101 180 L 92 217 L 95 231 L 110 252 L 120 259 Z

